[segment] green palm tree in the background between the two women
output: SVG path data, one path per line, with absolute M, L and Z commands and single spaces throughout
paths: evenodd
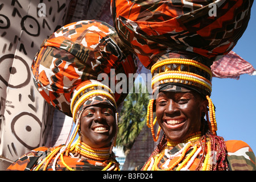
M 139 84 L 141 90 L 146 90 Z M 127 155 L 139 135 L 142 127 L 146 125 L 148 105 L 148 92 L 129 93 L 123 102 L 119 118 L 119 133 L 117 136 L 117 146 L 123 147 L 123 152 Z

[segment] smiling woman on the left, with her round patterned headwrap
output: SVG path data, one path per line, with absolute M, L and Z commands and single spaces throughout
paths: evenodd
M 82 20 L 54 32 L 31 69 L 38 91 L 48 104 L 73 117 L 75 128 L 66 144 L 36 148 L 7 170 L 119 170 L 112 149 L 118 105 L 127 92 L 114 93 L 108 84 L 112 69 L 128 77 L 136 68 L 133 55 L 109 24 Z M 104 84 L 98 78 L 101 73 Z

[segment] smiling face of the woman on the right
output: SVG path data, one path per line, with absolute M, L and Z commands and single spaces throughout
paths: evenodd
M 207 101 L 195 92 L 159 92 L 156 98 L 157 121 L 172 142 L 200 131 L 201 115 L 206 111 Z

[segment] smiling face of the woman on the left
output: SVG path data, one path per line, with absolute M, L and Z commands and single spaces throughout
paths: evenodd
M 109 147 L 115 132 L 115 117 L 112 106 L 97 104 L 86 107 L 81 115 L 81 141 L 90 147 Z

